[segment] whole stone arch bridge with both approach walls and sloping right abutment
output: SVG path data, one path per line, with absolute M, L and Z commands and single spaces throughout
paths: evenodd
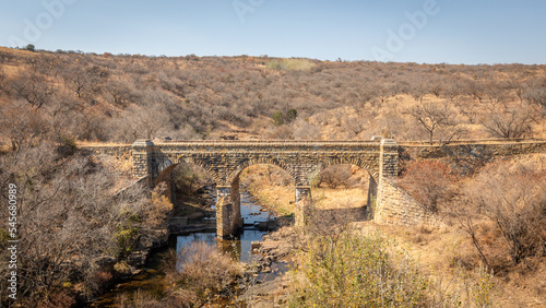
M 147 178 L 151 186 L 170 185 L 171 171 L 180 163 L 201 166 L 215 180 L 218 202 L 218 237 L 228 237 L 241 226 L 239 175 L 248 166 L 270 164 L 286 170 L 296 191 L 296 225 L 305 220 L 311 199 L 310 182 L 322 169 L 356 165 L 370 175 L 368 209 L 371 218 L 383 224 L 415 225 L 439 223 L 423 211 L 418 202 L 393 182 L 399 173 L 399 156 L 437 159 L 488 159 L 494 156 L 546 152 L 544 141 L 467 141 L 449 145 L 423 143 L 397 144 L 394 140 L 372 141 L 183 141 L 152 142 L 138 140 L 132 145 L 87 146 L 95 154 L 128 156 L 136 178 Z M 171 188 L 174 186 L 170 186 Z M 175 196 L 170 193 L 171 198 Z

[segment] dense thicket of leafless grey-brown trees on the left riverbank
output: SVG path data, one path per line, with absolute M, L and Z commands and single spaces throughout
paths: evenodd
M 56 301 L 56 294 L 70 292 L 67 282 L 83 286 L 78 293 L 95 295 L 111 279 L 108 262 L 114 265 L 141 234 L 165 223 L 168 202 L 150 200 L 138 185 L 115 193 L 117 182 L 116 173 L 97 162 L 81 153 L 60 156 L 47 142 L 0 156 L 0 185 L 16 185 L 17 217 L 25 222 L 17 225 L 17 248 L 24 251 L 17 258 L 23 307 L 67 307 L 64 300 Z M 8 204 L 7 193 L 0 201 Z M 7 245 L 0 241 L 3 260 Z M 7 271 L 1 266 L 0 274 L 7 276 Z M 0 287 L 7 288 L 7 280 Z M 8 306 L 7 293 L 1 300 Z

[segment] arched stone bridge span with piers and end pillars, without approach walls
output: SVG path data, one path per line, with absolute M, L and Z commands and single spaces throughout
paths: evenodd
M 132 145 L 133 175 L 149 177 L 151 185 L 170 181 L 180 163 L 203 167 L 216 181 L 218 237 L 233 235 L 240 218 L 239 175 L 248 166 L 270 164 L 286 170 L 296 191 L 296 225 L 305 217 L 310 201 L 310 182 L 318 173 L 337 164 L 366 169 L 375 199 L 381 179 L 397 175 L 399 150 L 394 140 L 358 142 L 298 141 L 186 141 L 153 143 L 138 140 Z M 174 196 L 174 193 L 171 193 Z

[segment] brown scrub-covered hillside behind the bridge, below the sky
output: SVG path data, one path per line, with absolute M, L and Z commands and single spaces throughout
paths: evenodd
M 545 138 L 545 66 L 0 48 L 0 122 L 48 140 Z

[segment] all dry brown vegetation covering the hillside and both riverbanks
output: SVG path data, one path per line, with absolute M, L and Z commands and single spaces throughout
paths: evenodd
M 119 174 L 82 155 L 76 146 L 81 142 L 132 143 L 165 137 L 369 140 L 382 135 L 440 143 L 461 138 L 546 138 L 545 69 L 0 48 L 0 183 L 16 183 L 19 216 L 24 217 L 19 230 L 20 250 L 25 251 L 20 254 L 23 305 L 70 306 L 78 295 L 88 298 L 99 292 L 116 274 L 100 260 L 122 260 L 138 246 L 139 236 L 158 227 L 170 210 L 157 192 L 150 197 L 134 188 L 115 194 Z M 301 259 L 308 261 L 301 268 L 301 282 L 312 287 L 296 288 L 293 304 L 323 303 L 327 295 L 334 295 L 329 298 L 344 305 L 373 300 L 378 306 L 482 307 L 491 300 L 512 307 L 544 305 L 544 157 L 484 165 L 473 166 L 472 173 L 461 173 L 449 162 L 404 166 L 401 186 L 446 220 L 442 229 L 380 228 L 407 244 L 402 249 L 412 256 L 397 253 L 396 245 L 382 239 L 355 239 L 347 232 L 353 216 L 324 215 L 328 209 L 361 208 L 367 198 L 365 171 L 351 166 L 324 170 L 312 192 L 313 216 L 321 227 L 309 228 Z M 241 185 L 278 214 L 293 213 L 289 176 L 271 166 L 252 168 L 244 171 Z M 178 169 L 176 177 L 185 190 L 202 185 L 194 173 Z M 5 192 L 1 198 L 7 204 Z M 1 235 L 0 248 L 7 253 L 4 229 Z M 347 253 L 355 258 L 344 263 Z M 366 253 L 371 257 L 363 259 Z M 233 269 L 217 258 L 215 262 L 226 266 L 214 277 L 201 280 L 205 276 L 200 269 L 210 266 L 206 260 L 195 263 L 194 273 L 176 274 L 177 284 L 199 281 L 200 286 L 189 293 L 186 288 L 168 305 L 203 304 L 206 288 L 223 292 L 229 281 L 226 273 Z M 424 273 L 416 272 L 414 260 Z M 353 271 L 382 283 L 343 280 Z M 330 275 L 336 272 L 344 275 Z M 412 288 L 424 281 L 432 285 L 427 284 L 426 291 Z M 3 289 L 4 283 L 0 283 Z M 339 287 L 331 289 L 334 284 Z M 369 292 L 352 298 L 358 294 L 353 292 L 356 286 Z M 155 298 L 140 297 L 149 306 L 159 305 Z M 133 305 L 128 300 L 120 298 L 120 305 Z

